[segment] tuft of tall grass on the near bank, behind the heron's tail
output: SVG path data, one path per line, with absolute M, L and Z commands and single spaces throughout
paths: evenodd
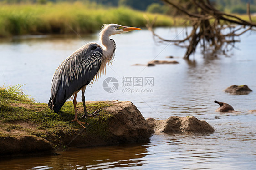
M 0 111 L 10 108 L 10 103 L 14 101 L 33 102 L 20 89 L 22 85 L 9 85 L 8 87 L 0 87 Z

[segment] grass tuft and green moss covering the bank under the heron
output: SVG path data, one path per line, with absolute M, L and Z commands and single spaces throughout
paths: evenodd
M 4 127 L 5 130 L 11 131 L 21 130 L 28 134 L 36 135 L 38 137 L 44 137 L 49 132 L 56 134 L 59 130 L 64 133 L 71 131 L 77 131 L 82 127 L 76 122 L 70 123 L 74 119 L 74 106 L 72 102 L 66 102 L 61 108 L 59 113 L 53 112 L 48 108 L 45 103 L 35 103 L 33 99 L 30 99 L 20 89 L 22 85 L 8 86 L 6 88 L 0 88 L 0 127 Z M 97 109 L 102 109 L 111 106 L 106 102 L 96 102 L 87 104 L 87 112 L 93 113 Z M 81 102 L 77 103 L 78 115 L 83 115 L 83 105 Z M 92 125 L 91 132 L 98 132 L 98 135 L 105 136 L 104 130 L 106 124 L 105 120 L 108 120 L 108 115 L 104 109 L 100 112 L 100 116 L 87 118 L 85 121 Z M 19 124 L 26 122 L 33 126 L 33 130 L 30 128 L 24 128 Z M 100 123 L 99 123 L 100 122 Z M 103 123 L 102 123 L 103 122 Z M 96 128 L 96 129 L 95 129 Z M 1 133 L 0 136 L 5 136 L 6 133 Z

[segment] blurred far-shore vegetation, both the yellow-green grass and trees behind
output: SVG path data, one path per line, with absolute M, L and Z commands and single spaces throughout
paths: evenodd
M 211 1 L 225 12 L 245 13 L 248 0 Z M 250 3 L 251 13 L 256 12 L 256 0 Z M 92 33 L 103 23 L 144 27 L 145 15 L 149 20 L 157 15 L 154 26 L 181 25 L 184 21 L 169 17 L 179 13 L 160 0 L 0 0 L 0 37 Z

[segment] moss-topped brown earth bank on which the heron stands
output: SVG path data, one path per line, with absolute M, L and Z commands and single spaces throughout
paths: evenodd
M 8 117 L 2 117 L 0 120 L 0 155 L 53 152 L 68 147 L 87 147 L 149 140 L 151 133 L 148 123 L 132 102 L 104 101 L 103 103 L 104 105 L 102 102 L 87 102 L 87 110 L 92 107 L 93 111 L 100 107 L 102 112 L 95 118 L 84 120 L 90 124 L 84 130 L 76 122 L 70 123 L 68 121 L 74 117 L 74 110 L 70 107 L 72 106 L 70 102 L 67 105 L 65 104 L 61 112 L 58 113 L 63 117 L 63 120 L 52 123 L 52 126 L 51 124 L 48 125 L 47 120 L 45 121 L 47 127 L 45 127 L 45 125 L 42 125 L 44 122 L 40 122 L 40 120 L 34 121 L 27 118 L 27 121 L 13 121 L 8 120 Z M 46 104 L 15 104 L 16 108 L 32 111 L 34 117 L 36 117 L 35 114 L 44 114 L 47 117 L 55 114 L 47 108 Z M 78 104 L 77 110 L 82 115 L 82 104 Z M 6 115 L 8 116 L 8 113 Z M 61 119 L 61 117 L 55 116 L 52 119 Z

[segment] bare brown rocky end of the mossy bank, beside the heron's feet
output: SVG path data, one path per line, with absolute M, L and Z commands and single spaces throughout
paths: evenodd
M 119 143 L 148 140 L 151 132 L 148 122 L 130 101 L 109 101 L 114 106 L 105 110 L 113 115 L 108 121 L 109 135 Z

